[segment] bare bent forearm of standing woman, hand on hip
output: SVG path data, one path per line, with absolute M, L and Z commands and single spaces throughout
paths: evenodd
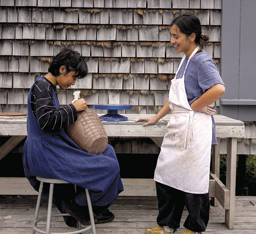
M 210 104 L 217 101 L 225 92 L 225 86 L 222 84 L 217 84 L 212 88 L 209 88 L 198 100 L 195 100 L 191 104 L 191 108 L 193 111 L 198 111 L 205 106 L 209 106 Z

